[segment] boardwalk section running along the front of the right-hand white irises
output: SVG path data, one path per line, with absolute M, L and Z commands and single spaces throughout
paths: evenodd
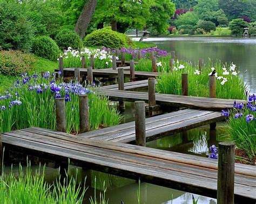
M 112 101 L 149 101 L 149 94 L 144 92 L 129 92 L 127 90 L 95 89 L 98 94 L 109 96 Z M 215 99 L 208 97 L 181 96 L 170 94 L 156 94 L 156 103 L 171 107 L 185 107 L 201 110 L 220 111 L 233 108 L 233 99 Z M 237 102 L 245 102 L 237 100 Z

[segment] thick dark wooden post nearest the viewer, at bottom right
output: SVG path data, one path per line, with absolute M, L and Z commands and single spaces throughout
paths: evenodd
M 218 204 L 234 203 L 234 143 L 220 142 L 218 156 Z

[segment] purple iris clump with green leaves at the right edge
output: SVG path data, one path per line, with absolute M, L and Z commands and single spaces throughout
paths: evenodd
M 247 96 L 247 95 L 246 95 Z M 240 150 L 244 150 L 249 159 L 256 155 L 256 96 L 248 95 L 246 103 L 234 101 L 233 110 L 228 111 L 228 135 Z

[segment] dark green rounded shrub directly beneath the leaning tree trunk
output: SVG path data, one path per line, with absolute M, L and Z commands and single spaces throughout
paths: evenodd
M 68 49 L 68 47 L 72 47 L 73 49 L 80 49 L 83 47 L 83 41 L 78 34 L 70 29 L 59 31 L 55 37 L 55 41 L 60 50 Z

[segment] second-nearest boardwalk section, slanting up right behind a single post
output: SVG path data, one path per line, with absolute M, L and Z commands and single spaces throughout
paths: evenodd
M 223 119 L 224 117 L 220 115 L 220 112 L 195 109 L 179 110 L 169 114 L 146 118 L 146 140 L 149 142 L 160 137 L 169 136 Z M 85 132 L 78 136 L 95 140 L 134 143 L 135 122 Z

